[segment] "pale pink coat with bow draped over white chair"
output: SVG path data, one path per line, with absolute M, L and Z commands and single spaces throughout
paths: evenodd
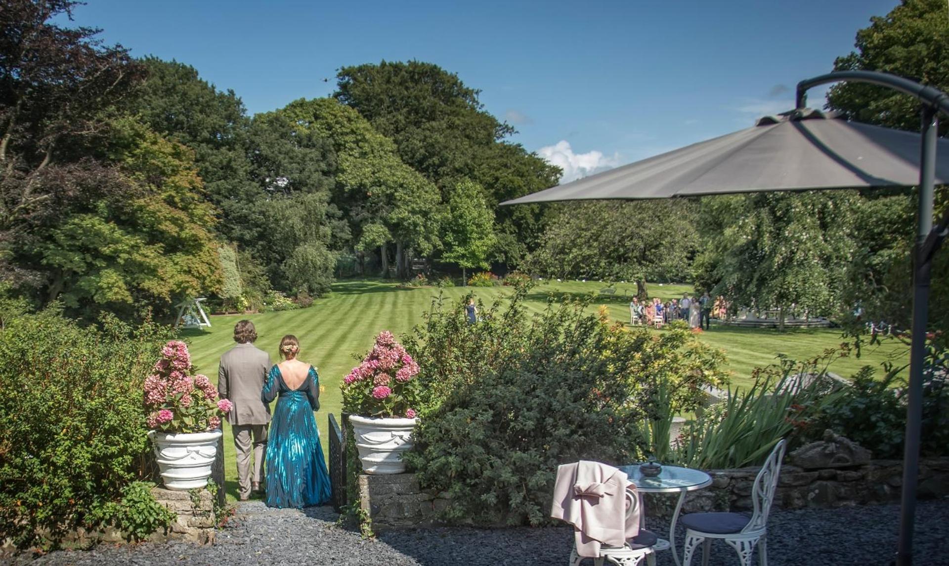
M 581 460 L 557 468 L 550 517 L 573 525 L 577 555 L 599 557 L 600 546 L 623 546 L 640 532 L 639 505 L 626 517 L 626 487 L 613 466 Z

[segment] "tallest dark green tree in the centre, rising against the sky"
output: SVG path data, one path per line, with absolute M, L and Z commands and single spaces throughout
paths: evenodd
M 552 187 L 560 169 L 504 141 L 514 133 L 478 100 L 480 91 L 436 64 L 410 61 L 340 69 L 338 100 L 391 137 L 401 159 L 444 194 L 462 178 L 485 189 L 486 204 Z M 447 200 L 445 197 L 443 199 Z M 541 205 L 497 210 L 497 259 L 516 264 L 538 243 L 547 222 Z

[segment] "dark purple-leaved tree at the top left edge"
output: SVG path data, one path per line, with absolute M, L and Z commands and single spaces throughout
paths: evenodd
M 26 245 L 73 206 L 129 191 L 85 152 L 143 72 L 123 47 L 102 46 L 97 29 L 57 23 L 77 4 L 0 1 L 0 267 L 34 289 L 50 284 L 48 272 L 11 261 L 10 246 Z

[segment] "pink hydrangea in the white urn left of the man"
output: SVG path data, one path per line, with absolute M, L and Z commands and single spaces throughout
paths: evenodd
M 161 432 L 204 432 L 219 429 L 233 403 L 217 398 L 207 375 L 192 375 L 188 346 L 172 340 L 145 378 L 145 410 L 149 429 Z

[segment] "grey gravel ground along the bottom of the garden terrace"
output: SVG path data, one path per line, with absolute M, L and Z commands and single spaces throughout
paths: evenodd
M 870 565 L 890 563 L 896 548 L 900 509 L 896 505 L 774 511 L 768 524 L 771 566 L 802 564 Z M 211 546 L 184 543 L 100 546 L 91 551 L 60 551 L 44 557 L 17 557 L 17 564 L 340 564 L 488 565 L 568 562 L 571 531 L 539 529 L 438 528 L 382 533 L 363 540 L 338 527 L 328 507 L 269 509 L 262 502 L 241 503 L 236 518 L 218 532 Z M 662 532 L 668 523 L 650 528 Z M 921 502 L 917 510 L 916 563 L 949 565 L 949 499 Z M 681 537 L 681 535 L 679 535 Z M 660 565 L 673 564 L 668 552 Z M 586 563 L 591 563 L 587 561 Z M 694 564 L 700 563 L 694 560 Z M 712 547 L 713 565 L 737 564 L 722 542 Z M 755 560 L 755 564 L 756 564 Z

